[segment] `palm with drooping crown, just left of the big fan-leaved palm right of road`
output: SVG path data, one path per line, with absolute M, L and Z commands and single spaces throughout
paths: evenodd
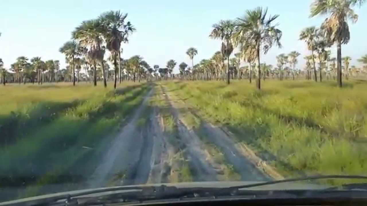
M 210 33 L 209 37 L 222 41 L 221 51 L 227 58 L 227 84 L 229 84 L 229 56 L 233 52 L 232 34 L 235 26 L 232 20 L 221 20 L 219 23 L 213 25 L 214 29 Z

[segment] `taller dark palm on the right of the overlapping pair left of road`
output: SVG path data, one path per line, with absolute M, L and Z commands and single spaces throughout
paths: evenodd
M 109 11 L 99 17 L 103 24 L 103 36 L 106 40 L 106 47 L 113 56 L 113 66 L 115 67 L 115 83 L 113 87 L 115 89 L 118 69 L 117 59 L 120 59 L 121 55 L 121 42 L 127 43 L 128 36 L 135 31 L 130 22 L 125 23 L 126 17 L 127 14 L 122 14 L 120 11 Z

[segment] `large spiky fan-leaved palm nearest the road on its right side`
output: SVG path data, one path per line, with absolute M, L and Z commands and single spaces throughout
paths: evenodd
M 240 44 L 240 48 L 250 55 L 250 59 L 256 56 L 258 89 L 261 88 L 260 50 L 266 54 L 273 44 L 281 48 L 282 32 L 276 28 L 277 25 L 272 25 L 279 15 L 269 16 L 268 19 L 265 19 L 267 14 L 268 8 L 263 10 L 262 7 L 257 7 L 254 10 L 247 10 L 243 18 L 237 18 L 235 33 L 233 34 L 236 46 Z

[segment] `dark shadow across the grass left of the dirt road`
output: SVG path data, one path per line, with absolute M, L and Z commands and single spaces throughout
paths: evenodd
M 124 93 L 134 88 L 137 87 L 127 88 Z M 130 96 L 119 101 L 103 101 L 100 109 L 88 111 L 83 118 L 59 116 L 47 124 L 36 124 L 38 129 L 27 136 L 28 138 L 17 139 L 19 143 L 14 142 L 11 147 L 5 146 L 3 151 L 7 156 L 1 160 L 0 187 L 84 181 L 83 177 L 87 177 L 91 171 L 83 168 L 89 168 L 87 165 L 95 162 L 95 159 L 90 159 L 95 157 L 91 156 L 95 147 L 99 146 L 102 137 L 119 127 L 119 119 L 133 111 L 139 104 L 134 101 L 135 98 L 147 89 L 148 87 L 143 87 L 132 91 Z M 28 152 L 28 146 L 34 148 L 31 149 L 33 152 Z M 73 163 L 68 166 L 70 162 Z

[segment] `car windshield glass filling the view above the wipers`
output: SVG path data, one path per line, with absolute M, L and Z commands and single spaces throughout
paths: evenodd
M 366 175 L 363 3 L 1 2 L 0 202 Z

